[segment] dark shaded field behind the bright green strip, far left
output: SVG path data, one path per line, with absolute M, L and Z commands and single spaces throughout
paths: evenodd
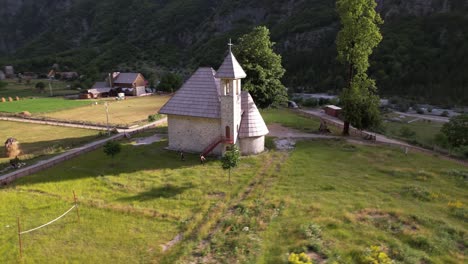
M 30 84 L 27 84 L 25 81 L 22 83 L 18 83 L 15 80 L 3 80 L 8 85 L 2 89 L 0 89 L 0 98 L 1 97 L 48 97 L 50 96 L 50 89 L 49 89 L 49 80 L 47 79 L 33 79 L 31 80 Z M 37 91 L 36 83 L 43 82 L 46 87 L 43 93 Z M 71 85 L 70 82 L 58 81 L 54 80 L 52 82 L 52 94 L 54 96 L 62 96 L 62 95 L 71 95 L 71 94 L 78 94 L 78 90 L 71 90 L 67 88 L 67 85 Z

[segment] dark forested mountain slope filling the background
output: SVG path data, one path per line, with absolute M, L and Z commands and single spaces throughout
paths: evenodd
M 468 0 L 378 0 L 384 40 L 371 73 L 384 95 L 468 104 Z M 0 0 L 1 64 L 53 63 L 88 79 L 110 70 L 218 66 L 229 38 L 267 25 L 295 90 L 344 85 L 326 0 Z

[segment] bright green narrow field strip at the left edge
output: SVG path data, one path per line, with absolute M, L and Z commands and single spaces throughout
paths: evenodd
M 64 109 L 73 109 L 80 106 L 91 105 L 89 100 L 69 100 L 63 98 L 24 98 L 20 101 L 0 102 L 0 112 L 21 113 L 28 111 L 31 114 L 49 113 Z

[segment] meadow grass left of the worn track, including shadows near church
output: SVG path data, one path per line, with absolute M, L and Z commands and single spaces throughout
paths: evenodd
M 227 185 L 218 160 L 209 159 L 202 166 L 197 155 L 187 154 L 180 161 L 177 153 L 164 150 L 166 145 L 124 144 L 114 162 L 99 149 L 22 178 L 0 190 L 1 202 L 11 205 L 0 209 L 0 226 L 15 226 L 18 214 L 28 227 L 47 222 L 70 206 L 75 190 L 83 223 L 75 224 L 74 216 L 67 215 L 26 237 L 30 262 L 43 260 L 44 249 L 55 263 L 157 262 L 162 244 L 190 232 L 210 208 L 235 197 L 262 161 L 242 158 L 233 171 L 233 184 Z M 0 233 L 0 252 L 9 262 L 17 255 L 16 233 L 5 230 Z

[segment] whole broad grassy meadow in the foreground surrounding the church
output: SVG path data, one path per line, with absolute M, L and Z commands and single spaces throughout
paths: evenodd
M 227 184 L 220 162 L 180 161 L 167 142 L 102 149 L 0 189 L 0 254 L 26 263 L 287 263 L 306 252 L 321 263 L 365 263 L 371 246 L 401 263 L 463 263 L 468 168 L 419 153 L 298 142 L 292 152 L 244 157 Z M 178 234 L 167 252 L 165 245 Z M 167 245 L 167 244 L 166 244 Z

